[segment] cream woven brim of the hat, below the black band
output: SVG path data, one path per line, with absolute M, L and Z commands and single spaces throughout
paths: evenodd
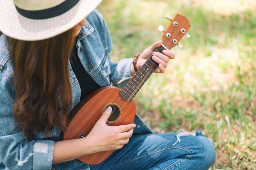
M 20 15 L 12 0 L 0 0 L 0 31 L 9 37 L 36 41 L 61 34 L 81 22 L 102 0 L 80 0 L 73 8 L 57 17 L 33 20 Z

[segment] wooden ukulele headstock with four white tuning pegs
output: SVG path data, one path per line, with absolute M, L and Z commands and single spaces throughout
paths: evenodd
M 163 32 L 163 45 L 166 46 L 169 50 L 178 45 L 180 48 L 182 45 L 179 44 L 181 38 L 185 35 L 186 37 L 190 37 L 187 33 L 191 25 L 189 24 L 189 20 L 180 15 L 175 14 L 173 18 L 169 15 L 165 16 L 167 20 L 170 20 L 171 23 L 167 27 L 166 31 L 164 31 L 163 26 L 159 26 L 158 30 Z

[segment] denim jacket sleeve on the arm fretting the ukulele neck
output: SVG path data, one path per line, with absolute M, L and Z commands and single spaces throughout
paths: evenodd
M 99 11 L 98 11 L 99 12 Z M 104 18 L 99 13 L 101 17 L 101 21 L 103 24 L 103 28 L 105 30 L 105 38 L 108 44 L 108 53 L 113 48 L 113 43 L 111 40 L 111 35 L 108 29 L 107 24 L 105 23 Z M 110 55 L 108 57 L 111 61 Z M 122 88 L 129 79 L 131 79 L 131 64 L 133 62 L 133 58 L 121 59 L 119 62 L 110 62 L 110 70 L 111 74 L 109 75 L 110 81 L 118 88 Z

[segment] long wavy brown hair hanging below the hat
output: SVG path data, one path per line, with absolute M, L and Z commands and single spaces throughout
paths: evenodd
M 8 37 L 16 90 L 13 114 L 16 127 L 28 141 L 35 132 L 57 126 L 67 128 L 72 105 L 68 61 L 73 49 L 74 29 L 40 41 Z

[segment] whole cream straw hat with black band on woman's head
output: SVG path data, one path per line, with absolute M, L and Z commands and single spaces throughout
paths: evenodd
M 0 0 L 0 31 L 18 40 L 44 40 L 81 22 L 102 0 Z

